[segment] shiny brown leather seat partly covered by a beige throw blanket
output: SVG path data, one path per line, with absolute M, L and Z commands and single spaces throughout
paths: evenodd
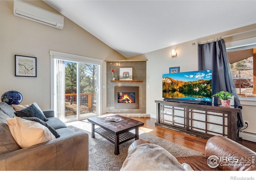
M 136 147 L 146 143 L 150 142 L 146 140 L 134 141 L 128 149 L 128 154 L 132 150 L 135 150 Z M 180 164 L 189 164 L 190 167 L 195 171 L 244 171 L 256 170 L 254 161 L 255 156 L 256 152 L 241 144 L 238 144 L 231 139 L 224 136 L 213 136 L 206 143 L 204 155 L 175 158 Z M 210 165 L 210 167 L 208 164 L 211 164 L 212 157 L 213 160 L 216 160 L 216 157 L 217 159 L 219 158 L 219 162 Z M 213 168 L 214 166 L 217 167 Z

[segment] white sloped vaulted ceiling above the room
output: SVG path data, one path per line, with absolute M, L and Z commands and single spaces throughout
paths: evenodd
M 256 24 L 256 0 L 44 2 L 126 58 Z

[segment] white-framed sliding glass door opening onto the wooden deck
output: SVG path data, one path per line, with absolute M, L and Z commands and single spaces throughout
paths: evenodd
M 64 122 L 100 115 L 100 65 L 53 56 L 53 106 Z

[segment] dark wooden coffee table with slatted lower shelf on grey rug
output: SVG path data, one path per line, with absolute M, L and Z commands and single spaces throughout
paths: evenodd
M 104 121 L 108 116 L 117 116 L 123 118 L 124 120 L 121 120 L 120 122 Z M 114 143 L 116 155 L 119 154 L 119 144 L 122 144 L 133 138 L 135 138 L 135 140 L 139 139 L 139 127 L 144 125 L 143 122 L 126 118 L 124 116 L 119 116 L 117 114 L 106 114 L 102 116 L 87 118 L 87 120 L 92 123 L 91 137 L 95 138 L 96 132 L 100 136 Z M 100 127 L 95 128 L 95 125 Z M 129 132 L 133 129 L 135 129 L 135 134 Z

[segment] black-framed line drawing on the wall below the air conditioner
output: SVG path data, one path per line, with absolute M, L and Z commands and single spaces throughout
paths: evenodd
M 15 55 L 15 76 L 36 77 L 36 58 Z

